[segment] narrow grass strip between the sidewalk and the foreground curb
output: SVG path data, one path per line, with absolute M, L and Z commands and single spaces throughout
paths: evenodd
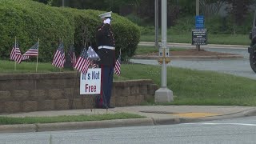
M 54 122 L 85 122 L 85 121 L 102 121 L 111 119 L 127 118 L 145 118 L 138 114 L 117 113 L 117 114 L 95 114 L 95 115 L 72 115 L 58 117 L 0 117 L 0 125 L 13 124 L 34 124 L 34 123 L 54 123 Z

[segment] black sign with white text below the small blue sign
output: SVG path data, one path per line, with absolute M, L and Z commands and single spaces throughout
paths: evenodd
M 192 30 L 192 45 L 207 45 L 207 30 Z

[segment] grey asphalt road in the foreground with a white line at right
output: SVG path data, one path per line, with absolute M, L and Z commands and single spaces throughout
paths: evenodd
M 178 125 L 1 134 L 0 143 L 255 143 L 256 116 Z

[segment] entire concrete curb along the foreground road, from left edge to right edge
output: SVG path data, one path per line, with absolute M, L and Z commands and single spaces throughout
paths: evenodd
M 40 123 L 40 124 L 21 124 L 21 125 L 2 125 L 1 133 L 24 133 L 24 132 L 42 132 L 58 130 L 85 130 L 96 128 L 110 128 L 123 126 L 156 126 L 171 125 L 189 122 L 202 122 L 211 120 L 220 120 L 227 118 L 242 118 L 256 115 L 256 108 L 244 110 L 233 114 L 224 114 L 206 118 L 131 118 L 115 119 L 105 121 L 90 122 L 58 122 L 58 123 Z

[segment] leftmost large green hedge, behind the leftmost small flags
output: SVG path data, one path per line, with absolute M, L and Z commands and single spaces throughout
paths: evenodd
M 1 58 L 10 57 L 15 36 L 22 53 L 40 38 L 40 62 L 52 60 L 59 38 L 64 38 L 66 45 L 74 38 L 74 24 L 59 10 L 26 0 L 1 0 L 0 3 Z

